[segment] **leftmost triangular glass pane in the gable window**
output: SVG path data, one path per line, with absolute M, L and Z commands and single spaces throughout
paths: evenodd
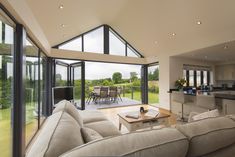
M 82 51 L 82 38 L 78 37 L 68 43 L 59 46 L 59 49 Z

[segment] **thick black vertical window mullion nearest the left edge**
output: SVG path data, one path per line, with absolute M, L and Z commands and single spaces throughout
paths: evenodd
M 16 25 L 14 50 L 14 83 L 13 83 L 13 157 L 25 155 L 25 105 L 24 105 L 24 82 L 25 60 L 24 49 L 26 32 L 21 24 Z

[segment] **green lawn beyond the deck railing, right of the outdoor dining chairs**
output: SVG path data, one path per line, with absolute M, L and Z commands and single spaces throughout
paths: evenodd
M 123 96 L 123 95 L 121 95 L 121 96 Z M 125 97 L 131 98 L 131 93 L 125 93 Z M 148 97 L 149 97 L 149 104 L 156 104 L 159 102 L 159 97 L 158 97 L 157 93 L 149 92 Z M 133 93 L 133 99 L 137 100 L 137 101 L 141 101 L 141 93 L 138 91 L 135 91 Z

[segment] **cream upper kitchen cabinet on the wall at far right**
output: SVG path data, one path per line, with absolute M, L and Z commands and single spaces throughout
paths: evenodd
M 235 80 L 235 64 L 216 66 L 215 78 L 216 80 Z

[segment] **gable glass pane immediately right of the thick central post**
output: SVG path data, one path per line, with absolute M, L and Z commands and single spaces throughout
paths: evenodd
M 116 34 L 109 31 L 109 53 L 111 55 L 125 56 L 126 46 L 124 41 L 118 38 Z

